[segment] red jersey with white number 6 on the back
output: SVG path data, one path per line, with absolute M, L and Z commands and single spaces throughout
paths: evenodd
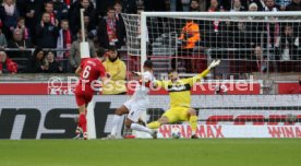
M 97 58 L 83 59 L 80 67 L 82 68 L 82 73 L 77 86 L 86 87 L 82 91 L 94 92 L 91 84 L 97 81 L 99 76 L 103 78 L 106 75 L 105 67 Z

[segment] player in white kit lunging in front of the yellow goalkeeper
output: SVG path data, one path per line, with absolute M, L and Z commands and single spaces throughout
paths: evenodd
M 142 112 L 146 111 L 148 106 L 148 92 L 149 85 L 155 80 L 153 75 L 153 62 L 146 60 L 143 66 L 144 72 L 134 72 L 140 76 L 139 85 L 135 87 L 135 92 L 132 98 L 125 102 L 120 108 L 116 109 L 116 115 L 113 117 L 113 127 L 108 139 L 115 139 L 117 137 L 117 127 L 121 120 L 121 116 L 128 114 L 125 119 L 125 126 L 129 129 L 143 131 L 149 133 L 153 138 L 156 138 L 156 131 L 153 131 L 145 126 L 139 123 L 140 116 Z

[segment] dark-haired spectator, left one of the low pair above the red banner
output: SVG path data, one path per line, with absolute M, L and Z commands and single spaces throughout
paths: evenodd
M 48 69 L 48 63 L 45 59 L 45 52 L 41 48 L 37 47 L 34 51 L 32 61 L 31 61 L 33 73 L 43 73 Z

